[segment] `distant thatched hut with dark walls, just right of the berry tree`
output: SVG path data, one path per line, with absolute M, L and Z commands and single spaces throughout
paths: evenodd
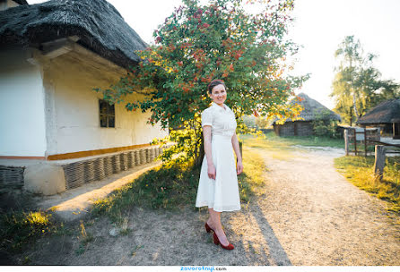
M 303 107 L 299 117 L 302 120 L 291 121 L 289 118 L 283 124 L 277 124 L 279 119 L 274 120 L 274 132 L 278 136 L 309 136 L 314 134 L 312 122 L 318 119 L 341 121 L 340 115 L 335 114 L 317 100 L 309 98 L 305 93 L 298 95 L 302 101 L 292 100 L 291 103 L 298 103 Z

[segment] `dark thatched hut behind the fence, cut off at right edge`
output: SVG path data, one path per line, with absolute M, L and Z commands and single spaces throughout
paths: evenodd
M 400 98 L 386 100 L 362 115 L 357 122 L 362 127 L 380 127 L 382 132 L 400 139 Z

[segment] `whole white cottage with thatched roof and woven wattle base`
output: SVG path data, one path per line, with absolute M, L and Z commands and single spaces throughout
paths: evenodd
M 150 142 L 167 136 L 168 130 L 147 123 L 150 111 L 128 112 L 124 103 L 109 105 L 93 91 L 126 75 L 140 61 L 135 50 L 147 47 L 114 6 L 105 0 L 1 3 L 0 187 L 4 176 L 13 176 L 10 167 L 26 166 L 27 160 L 30 167 L 17 169 L 26 188 L 27 176 L 33 176 L 29 173 L 38 175 L 42 169 L 32 161 L 62 164 L 64 169 L 56 169 L 57 176 L 65 174 L 60 186 L 40 170 L 40 179 L 48 183 L 31 190 L 51 194 L 152 157 Z M 126 102 L 138 99 L 143 96 L 133 94 Z M 134 157 L 138 149 L 140 159 Z M 117 152 L 126 153 L 118 157 Z

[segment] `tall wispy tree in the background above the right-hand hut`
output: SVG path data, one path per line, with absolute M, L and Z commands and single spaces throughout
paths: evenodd
M 381 73 L 373 66 L 376 55 L 364 54 L 359 39 L 345 37 L 335 57 L 339 66 L 335 68 L 331 97 L 335 98 L 335 110 L 350 125 L 371 107 L 398 96 L 399 85 L 380 79 Z

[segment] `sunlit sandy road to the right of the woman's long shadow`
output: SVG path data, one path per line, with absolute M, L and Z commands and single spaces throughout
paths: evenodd
M 341 149 L 263 152 L 268 189 L 258 206 L 293 265 L 400 265 L 400 228 L 386 204 L 334 167 Z

